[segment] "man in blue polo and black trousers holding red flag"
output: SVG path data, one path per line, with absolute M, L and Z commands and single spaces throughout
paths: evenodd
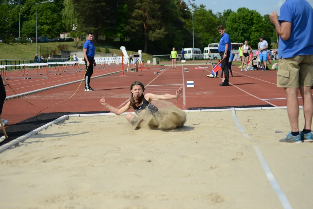
M 223 83 L 220 83 L 220 86 L 228 86 L 229 79 L 229 71 L 228 71 L 228 60 L 230 57 L 230 37 L 227 33 L 225 33 L 225 29 L 223 25 L 218 26 L 218 33 L 221 35 L 221 40 L 218 44 L 218 52 L 221 56 L 222 61 L 222 71 L 224 72 L 225 80 Z

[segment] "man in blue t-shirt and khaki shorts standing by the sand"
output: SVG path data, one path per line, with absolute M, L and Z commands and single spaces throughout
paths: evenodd
M 313 8 L 305 0 L 286 0 L 270 14 L 279 37 L 277 87 L 283 87 L 291 132 L 280 142 L 313 142 Z M 299 132 L 298 90 L 303 100 L 305 125 Z

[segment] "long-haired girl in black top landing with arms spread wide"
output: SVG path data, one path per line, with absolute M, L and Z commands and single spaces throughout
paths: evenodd
M 145 86 L 140 81 L 135 81 L 131 84 L 131 98 L 130 101 L 121 109 L 117 109 L 115 107 L 110 106 L 106 103 L 105 98 L 102 96 L 100 99 L 100 103 L 108 108 L 111 112 L 115 113 L 116 115 L 120 115 L 123 112 L 126 112 L 130 108 L 134 109 L 134 112 L 140 117 L 140 113 L 145 111 L 146 107 L 151 112 L 157 112 L 158 109 L 154 105 L 150 104 L 152 100 L 169 100 L 169 99 L 178 99 L 182 95 L 182 86 L 176 90 L 176 95 L 155 95 L 151 93 L 143 94 L 145 91 Z M 132 125 L 136 125 L 139 121 L 139 118 L 131 113 L 126 114 L 126 119 Z

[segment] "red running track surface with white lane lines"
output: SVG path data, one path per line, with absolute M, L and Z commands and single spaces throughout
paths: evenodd
M 124 65 L 125 66 L 125 65 Z M 28 96 L 9 99 L 4 102 L 2 118 L 9 121 L 9 125 L 18 123 L 27 118 L 37 115 L 39 111 L 61 102 L 57 105 L 49 107 L 42 112 L 83 112 L 83 111 L 105 111 L 107 110 L 100 104 L 100 98 L 105 97 L 106 101 L 114 106 L 121 107 L 130 98 L 130 85 L 133 81 L 141 81 L 146 86 L 145 93 L 155 94 L 175 94 L 176 90 L 183 86 L 182 97 L 177 100 L 170 100 L 177 107 L 186 110 L 189 107 L 221 107 L 221 106 L 245 106 L 245 105 L 266 105 L 286 106 L 286 100 L 267 100 L 270 98 L 285 98 L 284 90 L 276 87 L 277 71 L 243 71 L 241 72 L 237 66 L 232 66 L 233 77 L 230 75 L 230 86 L 219 86 L 222 80 L 218 78 L 208 78 L 211 73 L 212 66 L 207 68 L 195 69 L 195 67 L 204 65 L 177 65 L 177 69 L 171 66 L 149 65 L 150 69 L 138 72 L 124 72 L 109 76 L 103 76 L 91 79 L 90 86 L 94 91 L 84 91 L 85 84 L 82 82 L 79 90 L 69 100 L 68 99 L 76 91 L 80 83 L 74 83 L 54 89 L 41 91 Z M 166 70 L 160 71 L 161 68 Z M 187 68 L 189 72 L 184 72 L 183 68 Z M 125 68 L 124 68 L 125 69 Z M 93 76 L 101 75 L 112 71 L 121 70 L 107 67 L 104 69 L 96 69 Z M 160 72 L 160 74 L 154 74 Z M 203 76 L 200 76 L 203 72 Z M 31 91 L 43 86 L 53 86 L 58 83 L 66 83 L 73 80 L 82 79 L 84 72 L 76 75 L 56 75 L 50 76 L 50 79 L 37 80 L 7 80 L 11 86 L 16 89 L 24 89 L 21 92 Z M 220 76 L 220 71 L 218 76 Z M 65 77 L 61 77 L 65 76 Z M 65 79 L 65 80 L 62 80 Z M 194 81 L 194 87 L 186 86 L 186 81 Z M 12 82 L 12 83 L 11 83 Z M 25 83 L 27 82 L 27 83 Z M 47 83 L 49 82 L 49 83 Z M 22 84 L 23 83 L 23 84 Z M 16 84 L 16 85 L 13 85 Z M 20 85 L 20 87 L 18 87 Z M 24 87 L 22 86 L 24 85 Z M 39 87 L 40 86 L 40 87 Z M 8 90 L 8 86 L 6 86 Z M 10 91 L 7 91 L 10 92 Z M 12 95 L 10 93 L 9 95 Z M 300 94 L 299 96 L 300 97 Z M 34 107 L 26 101 L 40 107 Z M 299 99 L 299 105 L 302 100 Z M 130 112 L 133 110 L 131 109 Z

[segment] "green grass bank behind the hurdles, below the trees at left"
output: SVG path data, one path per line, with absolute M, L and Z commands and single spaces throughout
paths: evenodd
M 83 44 L 84 42 L 80 42 L 80 44 Z M 76 49 L 74 42 L 61 42 L 61 43 L 38 43 L 38 54 L 40 54 L 40 46 L 42 47 L 48 47 L 48 48 L 58 48 L 59 45 L 67 45 L 67 51 L 83 51 L 82 47 L 81 49 Z M 99 47 L 100 52 L 95 52 L 96 54 L 104 54 L 105 48 Z M 126 50 L 128 55 L 130 53 L 138 54 L 138 51 L 128 51 Z M 112 52 L 112 55 L 116 53 L 117 56 L 122 55 L 122 51 L 120 49 L 110 49 L 110 52 Z M 21 44 L 21 43 L 12 43 L 12 44 L 3 44 L 0 43 L 0 59 L 33 59 L 36 54 L 36 43 L 32 44 Z M 46 57 L 45 57 L 46 58 Z M 142 53 L 142 58 L 144 59 L 144 62 L 146 63 L 147 60 L 150 60 L 152 63 L 152 55 Z

